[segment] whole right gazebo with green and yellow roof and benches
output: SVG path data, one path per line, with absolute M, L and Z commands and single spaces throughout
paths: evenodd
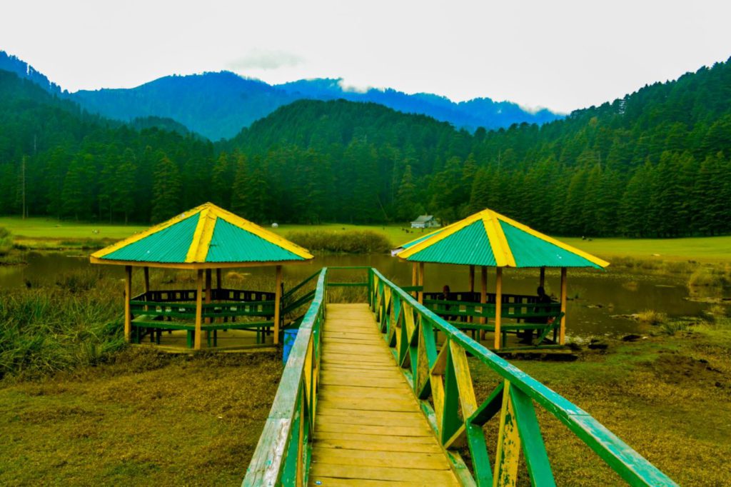
M 533 331 L 537 331 L 537 344 L 542 344 L 553 331 L 553 342 L 563 345 L 566 339 L 567 268 L 602 269 L 609 265 L 605 260 L 489 209 L 405 243 L 393 254 L 413 263 L 412 285 L 420 289 L 417 291 L 420 303 L 458 328 L 481 333 L 493 331 L 496 350 L 504 344 L 509 332 L 532 336 Z M 425 263 L 469 265 L 469 291 L 450 291 L 446 295 L 444 292 L 424 292 Z M 481 269 L 479 293 L 474 290 L 476 266 Z M 487 290 L 488 267 L 496 268 L 493 293 Z M 558 302 L 545 296 L 504 293 L 503 268 L 539 268 L 540 287 L 545 286 L 546 268 L 560 268 Z

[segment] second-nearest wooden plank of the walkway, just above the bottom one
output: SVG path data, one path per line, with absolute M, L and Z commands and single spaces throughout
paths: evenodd
M 319 463 L 338 465 L 363 465 L 370 467 L 395 467 L 404 469 L 448 470 L 450 465 L 442 453 L 391 452 L 383 455 L 373 450 L 345 450 L 336 448 L 312 449 Z

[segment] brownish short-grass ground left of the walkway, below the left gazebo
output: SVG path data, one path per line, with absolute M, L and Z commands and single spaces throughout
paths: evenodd
M 132 349 L 0 382 L 0 485 L 238 485 L 280 374 L 273 354 Z

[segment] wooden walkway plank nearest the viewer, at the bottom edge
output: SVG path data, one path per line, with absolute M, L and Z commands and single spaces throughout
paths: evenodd
M 310 480 L 318 477 L 338 477 L 382 481 L 412 481 L 425 486 L 457 486 L 457 480 L 450 470 L 417 470 L 392 467 L 363 467 L 357 465 L 334 465 L 314 463 L 310 469 Z

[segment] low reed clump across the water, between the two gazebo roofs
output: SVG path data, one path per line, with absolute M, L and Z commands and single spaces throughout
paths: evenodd
M 382 254 L 391 249 L 386 235 L 374 230 L 298 230 L 289 232 L 287 238 L 313 252 Z

